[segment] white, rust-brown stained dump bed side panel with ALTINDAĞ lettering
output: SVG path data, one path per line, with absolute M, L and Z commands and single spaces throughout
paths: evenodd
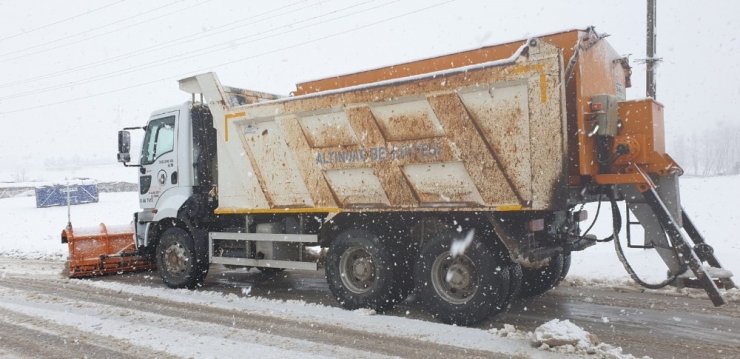
M 230 108 L 219 213 L 555 209 L 565 203 L 561 50 Z

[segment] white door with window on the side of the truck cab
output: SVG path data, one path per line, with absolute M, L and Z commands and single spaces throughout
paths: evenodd
M 153 117 L 147 125 L 141 149 L 139 202 L 154 208 L 162 195 L 177 187 L 177 120 L 179 111 Z

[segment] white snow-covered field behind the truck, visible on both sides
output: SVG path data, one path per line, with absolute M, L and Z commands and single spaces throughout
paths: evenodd
M 720 262 L 734 273 L 740 273 L 740 240 L 733 230 L 740 221 L 740 176 L 683 178 L 681 200 L 699 230 L 711 244 Z M 134 192 L 101 193 L 100 202 L 72 207 L 75 227 L 98 223 L 126 224 L 138 210 L 138 195 Z M 590 223 L 596 206 L 587 206 Z M 0 218 L 4 235 L 0 239 L 0 255 L 34 259 L 63 259 L 67 248 L 60 234 L 67 223 L 65 207 L 36 208 L 33 197 L 0 200 Z M 592 233 L 600 238 L 611 233 L 608 203 L 602 204 L 601 215 Z M 626 239 L 622 231 L 622 242 Z M 637 273 L 657 281 L 665 276 L 665 265 L 652 250 L 627 249 L 627 257 Z M 617 259 L 612 243 L 600 243 L 573 255 L 570 279 L 590 281 L 628 280 Z

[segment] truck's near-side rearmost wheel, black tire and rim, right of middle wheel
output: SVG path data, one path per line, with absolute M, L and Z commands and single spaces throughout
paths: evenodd
M 438 320 L 472 325 L 508 304 L 508 264 L 477 238 L 453 258 L 452 238 L 449 233 L 440 234 L 422 247 L 414 270 L 418 296 Z M 455 274 L 458 279 L 451 279 Z

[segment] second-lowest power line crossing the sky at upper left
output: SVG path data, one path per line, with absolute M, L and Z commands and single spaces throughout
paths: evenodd
M 280 36 L 280 35 L 285 35 L 285 34 L 296 32 L 296 31 L 300 31 L 300 30 L 305 30 L 307 28 L 311 28 L 311 27 L 315 27 L 315 26 L 318 26 L 318 25 L 322 25 L 322 24 L 325 24 L 325 23 L 328 23 L 328 22 L 331 22 L 331 21 L 341 20 L 341 19 L 344 19 L 344 18 L 349 17 L 349 16 L 354 16 L 354 15 L 361 14 L 361 13 L 364 13 L 364 12 L 368 12 L 368 11 L 371 11 L 371 10 L 375 10 L 375 9 L 378 9 L 378 8 L 381 8 L 381 7 L 385 7 L 385 6 L 391 5 L 391 4 L 396 3 L 396 2 L 399 2 L 399 1 L 400 0 L 392 0 L 390 2 L 383 3 L 383 4 L 380 4 L 380 5 L 374 6 L 374 7 L 370 7 L 370 8 L 363 9 L 363 10 L 359 10 L 359 11 L 356 11 L 356 12 L 353 12 L 353 13 L 349 13 L 349 14 L 344 14 L 342 16 L 338 16 L 338 17 L 335 17 L 335 18 L 330 18 L 330 19 L 325 20 L 325 21 L 317 22 L 317 23 L 314 23 L 314 24 L 309 24 L 309 25 L 302 26 L 302 27 L 293 28 L 294 25 L 300 24 L 302 22 L 307 22 L 307 21 L 310 21 L 310 20 L 315 20 L 315 19 L 318 19 L 318 18 L 325 17 L 327 15 L 335 14 L 335 13 L 338 13 L 338 12 L 341 12 L 341 11 L 344 11 L 344 10 L 347 10 L 347 9 L 351 9 L 351 8 L 358 7 L 358 6 L 361 6 L 361 5 L 364 5 L 364 4 L 367 4 L 367 3 L 372 2 L 372 0 L 366 0 L 366 1 L 361 2 L 361 3 L 357 3 L 357 4 L 350 5 L 350 6 L 346 6 L 346 7 L 340 8 L 340 9 L 336 9 L 336 10 L 330 11 L 328 13 L 324 13 L 324 14 L 321 14 L 321 15 L 318 15 L 318 16 L 314 16 L 314 17 L 311 17 L 311 18 L 308 18 L 308 19 L 301 20 L 301 21 L 293 22 L 293 23 L 288 24 L 288 25 L 283 25 L 283 26 L 280 26 L 280 27 L 277 27 L 277 28 L 272 28 L 272 29 L 269 29 L 269 30 L 266 30 L 266 31 L 262 31 L 260 33 L 251 34 L 251 35 L 248 35 L 248 36 L 243 36 L 243 37 L 232 39 L 230 41 L 222 42 L 222 43 L 219 43 L 219 44 L 216 44 L 216 45 L 202 47 L 200 49 L 186 51 L 186 52 L 183 52 L 183 53 L 179 53 L 177 55 L 170 55 L 170 56 L 168 56 L 166 58 L 163 58 L 163 59 L 154 60 L 154 61 L 150 61 L 150 62 L 147 62 L 147 63 L 144 63 L 144 64 L 140 64 L 140 65 L 138 65 L 135 68 L 126 68 L 126 69 L 122 69 L 122 70 L 117 70 L 117 71 L 113 71 L 113 72 L 109 72 L 109 73 L 105 73 L 105 74 L 100 74 L 100 75 L 88 77 L 88 78 L 85 78 L 85 79 L 82 79 L 82 80 L 79 80 L 79 81 L 72 81 L 72 82 L 68 82 L 68 83 L 64 83 L 64 84 L 60 84 L 60 85 L 48 86 L 48 87 L 44 87 L 44 88 L 35 88 L 33 90 L 29 90 L 29 91 L 25 91 L 25 92 L 17 92 L 17 93 L 14 93 L 12 95 L 2 96 L 2 97 L 0 97 L 0 100 L 9 100 L 9 99 L 20 98 L 20 97 L 36 96 L 36 95 L 38 95 L 40 93 L 45 93 L 45 92 L 49 92 L 49 91 L 63 89 L 63 88 L 70 87 L 70 86 L 82 85 L 82 84 L 86 84 L 86 83 L 90 83 L 90 82 L 95 82 L 95 81 L 99 81 L 99 80 L 104 80 L 104 79 L 108 79 L 108 78 L 111 78 L 111 77 L 116 77 L 116 76 L 119 76 L 119 75 L 125 75 L 125 74 L 129 74 L 129 73 L 135 73 L 135 72 L 138 72 L 138 71 L 143 70 L 143 69 L 148 69 L 148 68 L 162 66 L 162 65 L 170 65 L 173 62 L 181 62 L 181 61 L 184 61 L 184 60 L 187 60 L 187 59 L 191 59 L 191 58 L 194 58 L 194 57 L 201 56 L 203 54 L 213 54 L 213 53 L 216 53 L 216 52 L 220 52 L 220 51 L 224 51 L 224 50 L 229 50 L 229 49 L 231 49 L 231 48 L 234 47 L 234 41 L 248 39 L 248 38 L 254 37 L 256 35 L 261 35 L 261 34 L 269 33 L 269 32 L 272 32 L 272 31 L 277 30 L 277 29 L 280 29 L 280 28 L 288 27 L 288 28 L 292 28 L 292 29 L 291 30 L 288 30 L 288 31 L 284 31 L 284 32 L 280 32 L 280 33 L 268 35 L 268 36 L 263 36 L 263 37 L 260 37 L 260 38 L 257 38 L 257 39 L 253 39 L 251 41 L 247 41 L 247 42 L 238 44 L 238 46 L 249 44 L 249 43 L 254 43 L 254 42 L 257 42 L 257 41 L 260 41 L 260 40 L 265 40 L 265 39 L 277 37 L 277 36 Z M 220 48 L 220 49 L 214 50 L 216 48 Z M 187 55 L 187 56 L 185 56 L 185 55 Z

